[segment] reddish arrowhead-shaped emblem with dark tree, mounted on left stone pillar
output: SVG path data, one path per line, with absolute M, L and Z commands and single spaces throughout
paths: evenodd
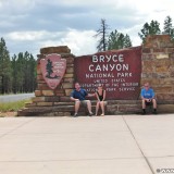
M 47 85 L 55 89 L 64 76 L 66 70 L 66 60 L 60 54 L 53 53 L 46 55 L 40 60 L 41 73 Z

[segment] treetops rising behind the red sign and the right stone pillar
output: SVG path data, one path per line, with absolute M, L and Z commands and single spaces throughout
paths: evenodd
M 120 33 L 116 29 L 111 33 L 109 33 L 109 30 L 110 29 L 107 21 L 101 18 L 100 27 L 95 35 L 95 37 L 98 38 L 98 51 L 123 49 L 133 46 L 130 37 L 127 34 Z M 138 33 L 138 36 L 144 42 L 148 35 L 170 35 L 171 39 L 174 40 L 174 27 L 172 24 L 172 17 L 165 17 L 163 30 L 160 29 L 160 23 L 158 21 L 152 20 L 150 23 L 145 23 Z

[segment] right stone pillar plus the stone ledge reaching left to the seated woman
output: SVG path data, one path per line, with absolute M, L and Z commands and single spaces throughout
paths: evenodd
M 174 42 L 169 35 L 148 36 L 142 45 L 140 86 L 156 91 L 158 113 L 174 113 Z M 109 101 L 110 114 L 141 113 L 141 101 Z

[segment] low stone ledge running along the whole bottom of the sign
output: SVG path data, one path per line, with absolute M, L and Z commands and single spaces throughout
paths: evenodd
M 96 110 L 96 101 L 91 101 L 92 112 Z M 174 100 L 165 100 L 165 102 L 158 102 L 158 113 L 174 113 Z M 17 112 L 18 116 L 71 116 L 74 114 L 74 102 L 59 102 L 51 107 L 32 107 L 30 103 L 26 104 L 26 109 Z M 147 108 L 149 114 L 151 111 Z M 100 114 L 101 111 L 99 111 Z M 109 100 L 105 105 L 105 115 L 119 114 L 141 114 L 140 100 Z M 80 107 L 79 115 L 88 115 L 86 108 Z

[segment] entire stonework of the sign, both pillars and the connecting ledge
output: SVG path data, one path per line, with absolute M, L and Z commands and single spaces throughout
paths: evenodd
M 50 89 L 44 80 L 40 70 L 40 59 L 47 54 L 58 53 L 66 59 L 67 67 L 61 84 L 55 89 Z M 47 115 L 63 116 L 74 114 L 74 102 L 70 100 L 70 94 L 74 88 L 74 59 L 66 46 L 48 47 L 40 49 L 37 63 L 37 89 L 32 103 L 26 103 L 18 115 Z M 159 113 L 174 113 L 174 42 L 167 35 L 147 37 L 141 50 L 141 79 L 140 85 L 149 82 L 153 87 L 158 99 Z M 136 62 L 135 62 L 136 63 Z M 95 112 L 96 101 L 92 100 Z M 79 112 L 86 114 L 87 110 L 80 108 Z M 140 100 L 110 100 L 107 104 L 107 114 L 140 113 Z

